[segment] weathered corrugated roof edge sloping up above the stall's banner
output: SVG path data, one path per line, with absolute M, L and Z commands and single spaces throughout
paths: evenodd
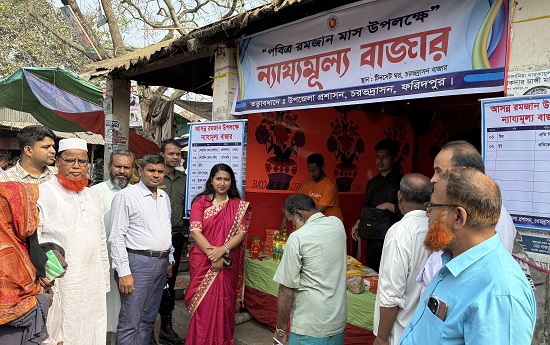
M 177 50 L 183 52 L 182 49 L 187 50 L 187 42 L 191 39 L 208 38 L 213 34 L 224 32 L 229 29 L 244 28 L 252 21 L 275 15 L 282 9 L 311 1 L 312 0 L 272 0 L 270 4 L 203 26 L 191 31 L 188 35 L 153 44 L 117 58 L 94 62 L 86 66 L 79 76 L 82 79 L 89 80 L 110 74 L 113 71 L 129 70 L 137 64 L 145 64 L 153 60 L 152 58 L 173 55 Z M 228 37 L 228 39 L 229 38 L 231 37 Z

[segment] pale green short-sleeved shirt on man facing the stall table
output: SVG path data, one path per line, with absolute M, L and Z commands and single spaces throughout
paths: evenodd
M 309 217 L 288 237 L 273 280 L 294 289 L 290 331 L 317 338 L 346 328 L 346 232 L 340 219 Z

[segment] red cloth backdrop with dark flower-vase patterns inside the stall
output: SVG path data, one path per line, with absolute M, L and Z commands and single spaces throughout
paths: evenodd
M 333 108 L 251 114 L 246 191 L 295 193 L 310 178 L 307 156 L 320 153 L 340 193 L 363 194 L 378 174 L 374 146 L 384 138 L 399 143 L 399 163 L 410 171 L 413 133 L 406 118 Z

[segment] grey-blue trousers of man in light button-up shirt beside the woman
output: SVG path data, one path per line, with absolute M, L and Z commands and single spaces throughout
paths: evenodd
M 148 345 L 166 284 L 168 258 L 128 253 L 128 261 L 135 290 L 131 295 L 120 293 L 117 344 Z M 115 280 L 118 283 L 116 272 Z

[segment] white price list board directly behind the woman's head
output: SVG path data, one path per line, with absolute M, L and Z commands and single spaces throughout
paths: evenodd
M 190 123 L 187 156 L 185 215 L 189 218 L 193 198 L 204 190 L 210 170 L 218 163 L 233 169 L 243 195 L 245 121 Z

